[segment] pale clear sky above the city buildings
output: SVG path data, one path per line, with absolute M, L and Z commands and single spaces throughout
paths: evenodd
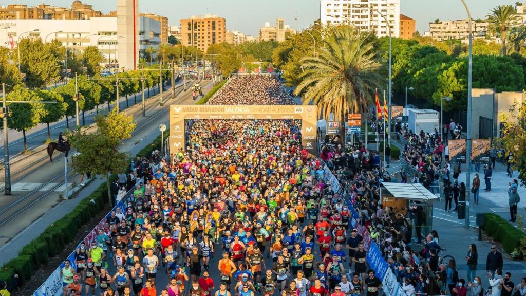
M 103 13 L 116 10 L 116 0 L 92 0 L 83 3 Z M 0 5 L 24 3 L 29 6 L 46 3 L 70 7 L 73 0 L 0 0 Z M 400 12 L 417 20 L 417 30 L 423 34 L 435 19 L 467 18 L 460 0 L 400 0 Z M 466 0 L 473 19 L 485 18 L 490 9 L 516 0 Z M 170 25 L 179 25 L 181 18 L 190 15 L 216 14 L 226 18 L 227 29 L 258 36 L 265 22 L 274 24 L 276 18 L 295 29 L 306 28 L 320 17 L 320 0 L 139 0 L 139 12 L 168 17 Z M 297 20 L 296 20 L 297 18 Z

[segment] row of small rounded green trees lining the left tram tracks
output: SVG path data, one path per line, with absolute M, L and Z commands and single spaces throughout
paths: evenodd
M 160 76 L 166 81 L 170 75 L 167 70 L 158 70 L 155 68 L 146 68 L 144 70 L 129 71 L 119 73 L 119 95 L 126 97 L 126 104 L 129 106 L 128 97 L 134 95 L 137 103 L 137 93 L 141 91 L 141 81 L 138 78 L 145 79 L 144 86 L 147 88 L 148 96 L 150 88 L 154 88 L 160 83 Z M 69 80 L 65 85 L 50 90 L 41 90 L 39 88 L 31 89 L 18 84 L 7 93 L 8 101 L 25 101 L 35 102 L 31 104 L 8 103 L 9 117 L 7 125 L 9 129 L 22 131 L 24 136 L 24 151 L 27 151 L 26 132 L 33 129 L 40 123 L 47 124 L 48 141 L 51 139 L 49 125 L 59 121 L 66 116 L 67 129 L 69 122 L 67 119 L 75 116 L 76 101 L 78 100 L 79 112 L 82 113 L 82 125 L 85 125 L 85 112 L 96 108 L 98 113 L 99 105 L 107 104 L 108 110 L 110 104 L 116 98 L 115 76 L 106 76 L 105 80 L 89 80 L 86 75 L 78 75 L 77 85 L 75 79 Z M 137 78 L 137 80 L 120 80 L 121 78 Z M 76 90 L 78 89 L 78 96 Z M 155 90 L 154 94 L 155 94 Z M 56 103 L 38 103 L 42 101 Z

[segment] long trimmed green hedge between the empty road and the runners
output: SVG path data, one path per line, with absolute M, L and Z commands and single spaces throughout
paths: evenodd
M 151 155 L 152 151 L 159 150 L 160 138 L 159 135 L 151 145 L 140 150 L 137 156 Z M 91 200 L 94 200 L 95 204 Z M 18 274 L 18 285 L 23 285 L 33 277 L 33 273 L 41 265 L 49 262 L 49 258 L 56 256 L 67 244 L 73 242 L 79 229 L 102 212 L 108 202 L 106 182 L 104 182 L 87 198 L 80 201 L 73 211 L 49 225 L 41 235 L 25 245 L 16 258 L 5 263 L 0 268 L 0 281 L 11 285 L 13 275 Z

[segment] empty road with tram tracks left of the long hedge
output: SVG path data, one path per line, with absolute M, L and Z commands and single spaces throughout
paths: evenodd
M 206 91 L 212 87 L 211 82 L 203 82 Z M 159 98 L 153 97 L 146 103 L 146 116 L 142 116 L 140 104 L 127 110 L 134 116 L 137 127 L 130 139 L 123 141 L 121 149 L 129 151 L 150 134 L 158 131 L 161 123 L 168 125 L 168 107 L 170 104 L 193 104 L 191 90 L 176 89 L 175 100 L 170 99 L 169 91 L 163 92 L 164 106 L 159 105 Z M 122 103 L 121 103 L 122 104 Z M 75 151 L 70 151 L 73 155 Z M 58 152 L 56 152 L 58 153 Z M 65 190 L 65 167 L 62 153 L 54 155 L 54 162 L 49 162 L 46 151 L 35 153 L 27 159 L 11 166 L 12 195 L 0 199 L 0 245 L 22 231 L 29 223 L 54 206 Z M 4 190 L 2 174 L 0 191 Z M 68 188 L 80 183 L 80 176 L 68 168 Z

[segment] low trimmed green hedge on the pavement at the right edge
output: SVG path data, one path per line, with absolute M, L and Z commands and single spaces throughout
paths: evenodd
M 509 254 L 519 248 L 521 239 L 526 236 L 520 229 L 493 213 L 484 213 L 483 228 L 488 235 L 493 236 L 494 240 L 501 242 L 502 248 Z

